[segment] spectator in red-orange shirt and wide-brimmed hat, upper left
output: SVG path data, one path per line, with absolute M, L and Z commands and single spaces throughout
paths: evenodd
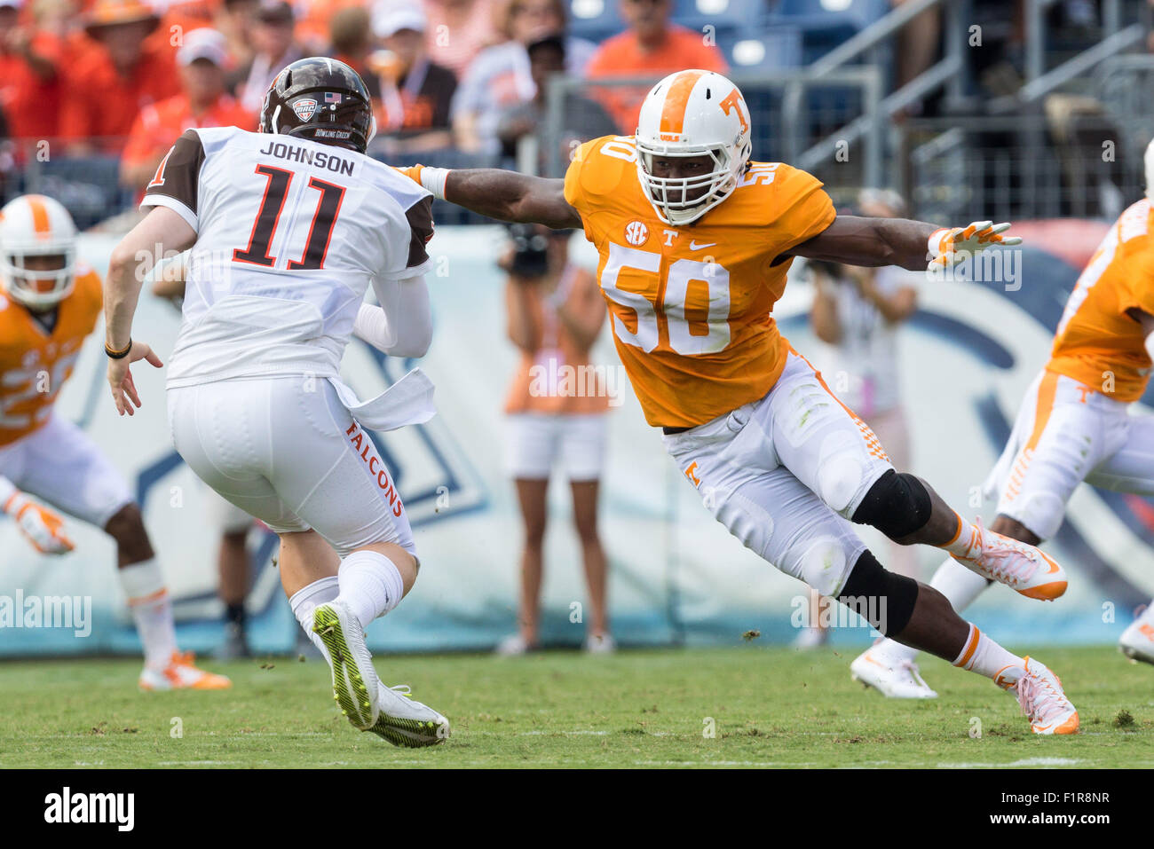
M 171 47 L 147 46 L 160 18 L 141 0 L 97 0 L 85 31 L 97 47 L 65 72 L 60 135 L 73 155 L 119 153 L 149 104 L 180 91 Z

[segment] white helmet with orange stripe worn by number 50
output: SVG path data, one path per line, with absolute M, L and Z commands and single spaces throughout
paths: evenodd
M 729 80 L 712 70 L 679 70 L 654 85 L 637 119 L 637 176 L 658 218 L 696 221 L 737 187 L 751 149 L 749 107 Z M 707 153 L 713 170 L 692 178 L 653 176 L 653 157 Z M 697 198 L 685 197 L 705 187 Z

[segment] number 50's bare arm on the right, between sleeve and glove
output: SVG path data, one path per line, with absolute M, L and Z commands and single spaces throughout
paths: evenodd
M 906 218 L 838 216 L 822 233 L 788 251 L 789 256 L 827 260 L 847 265 L 900 265 L 924 271 L 927 246 L 937 225 Z

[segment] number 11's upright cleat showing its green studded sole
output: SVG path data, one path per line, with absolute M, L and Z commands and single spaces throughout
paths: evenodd
M 380 712 L 380 681 L 373 655 L 365 645 L 365 630 L 342 601 L 313 610 L 313 633 L 321 638 L 332 667 L 332 698 L 355 728 L 367 731 Z

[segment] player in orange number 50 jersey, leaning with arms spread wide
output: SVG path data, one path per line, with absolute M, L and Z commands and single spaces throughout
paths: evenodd
M 715 518 L 882 633 L 1012 690 L 1035 732 L 1076 731 L 1078 712 L 1049 669 L 998 646 L 941 593 L 885 571 L 847 520 L 943 548 L 1032 598 L 1065 591 L 1061 566 L 964 520 L 894 469 L 771 316 L 794 256 L 916 270 L 1020 240 L 988 221 L 938 228 L 837 216 L 820 182 L 750 161 L 750 146 L 737 88 L 683 70 L 650 90 L 634 136 L 582 145 L 564 180 L 493 168 L 405 173 L 493 218 L 583 227 L 600 253 L 614 340 L 646 420 Z

